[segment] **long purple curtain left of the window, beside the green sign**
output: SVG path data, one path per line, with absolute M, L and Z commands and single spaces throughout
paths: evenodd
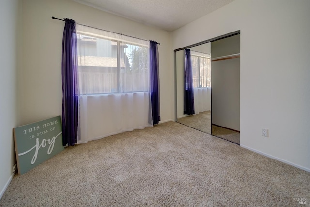
M 62 38 L 62 144 L 78 139 L 78 48 L 75 21 L 65 19 Z

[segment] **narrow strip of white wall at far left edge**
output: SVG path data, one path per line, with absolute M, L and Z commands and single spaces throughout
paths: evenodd
M 17 127 L 18 0 L 0 1 L 0 198 L 13 177 Z

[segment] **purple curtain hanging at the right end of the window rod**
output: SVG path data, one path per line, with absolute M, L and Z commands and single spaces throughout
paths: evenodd
M 153 125 L 160 121 L 159 64 L 157 42 L 150 40 L 151 106 Z

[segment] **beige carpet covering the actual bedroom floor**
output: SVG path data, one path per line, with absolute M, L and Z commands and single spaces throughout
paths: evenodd
M 0 206 L 298 206 L 310 173 L 175 122 L 69 147 Z

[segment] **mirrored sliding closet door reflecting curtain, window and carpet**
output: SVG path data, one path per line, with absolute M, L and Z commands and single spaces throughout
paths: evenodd
M 190 50 L 194 112 L 188 113 L 188 87 L 185 70 L 185 50 L 176 52 L 177 122 L 211 134 L 211 55 L 210 42 Z M 191 93 L 189 93 L 191 94 Z M 186 95 L 186 96 L 185 96 Z M 190 114 L 190 115 L 189 115 Z

